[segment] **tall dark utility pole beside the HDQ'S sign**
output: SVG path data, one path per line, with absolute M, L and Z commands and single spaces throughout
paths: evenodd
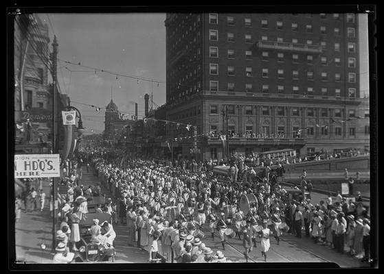
M 52 52 L 52 82 L 53 82 L 53 102 L 52 102 L 52 112 L 53 112 L 53 125 L 52 125 L 52 152 L 58 154 L 58 115 L 57 115 L 57 98 L 56 98 L 56 84 L 57 84 L 57 47 L 58 43 L 56 36 L 54 36 L 54 42 L 52 42 L 53 52 Z M 52 182 L 52 251 L 56 248 L 56 203 L 57 203 L 57 179 L 53 177 Z

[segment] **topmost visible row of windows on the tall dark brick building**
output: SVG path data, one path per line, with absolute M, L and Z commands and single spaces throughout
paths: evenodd
M 294 14 L 292 14 L 292 15 L 294 15 Z M 324 13 L 319 14 L 319 16 L 321 19 L 327 18 L 327 14 L 324 14 Z M 311 14 L 311 17 L 312 17 L 312 14 Z M 340 20 L 340 14 L 338 14 L 338 13 L 333 14 L 333 19 L 339 21 Z M 354 23 L 354 14 L 348 13 L 346 16 L 346 21 L 348 23 Z M 217 25 L 218 24 L 218 14 L 210 13 L 209 22 L 210 22 L 210 24 Z M 245 27 L 252 27 L 252 19 L 250 17 L 245 17 L 244 21 L 242 23 L 244 23 Z M 260 19 L 260 24 L 263 28 L 269 28 L 268 21 L 266 19 Z M 297 30 L 297 23 L 292 23 L 292 28 L 293 28 L 293 24 L 295 24 L 295 28 L 296 28 L 293 30 Z M 232 25 L 232 26 L 236 25 L 236 21 L 235 21 L 234 16 L 227 16 L 227 25 Z M 276 22 L 276 29 L 278 29 L 278 30 L 284 29 L 284 25 L 283 25 L 282 21 Z

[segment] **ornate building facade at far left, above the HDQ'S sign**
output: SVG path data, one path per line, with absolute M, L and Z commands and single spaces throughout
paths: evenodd
M 37 14 L 16 16 L 14 20 L 16 152 L 49 152 L 47 142 L 52 142 L 53 86 L 48 79 L 52 69 L 49 41 L 48 26 Z M 60 95 L 58 92 L 60 110 L 65 108 L 67 101 L 67 95 Z

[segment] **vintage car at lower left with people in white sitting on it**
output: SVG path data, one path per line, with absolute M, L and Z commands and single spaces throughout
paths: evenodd
M 111 215 L 108 213 L 88 213 L 87 220 L 79 223 L 80 242 L 76 245 L 79 249 L 76 252 L 74 262 L 105 262 L 115 260 L 115 247 L 113 245 L 101 245 L 99 242 L 91 240 L 91 226 L 93 219 L 98 219 L 100 223 L 108 221 L 111 223 Z

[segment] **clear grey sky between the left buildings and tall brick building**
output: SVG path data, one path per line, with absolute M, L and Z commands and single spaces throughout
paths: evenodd
M 84 127 L 104 129 L 104 112 L 79 103 L 105 108 L 111 101 L 131 119 L 138 103 L 144 115 L 144 95 L 153 92 L 157 105 L 166 102 L 166 27 L 163 13 L 125 14 L 38 14 L 49 27 L 49 49 L 58 42 L 58 83 L 71 105 L 82 114 Z M 102 73 L 65 61 L 114 73 L 159 81 L 151 83 Z M 78 103 L 75 103 L 78 102 Z M 155 108 L 156 105 L 153 105 Z

